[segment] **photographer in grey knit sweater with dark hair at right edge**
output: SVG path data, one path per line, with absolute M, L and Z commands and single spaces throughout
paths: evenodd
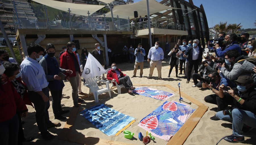
M 229 50 L 224 55 L 226 62 L 221 65 L 220 71 L 226 78 L 235 80 L 241 75 L 254 74 L 251 68 L 255 66 L 256 58 L 240 55 L 236 50 Z

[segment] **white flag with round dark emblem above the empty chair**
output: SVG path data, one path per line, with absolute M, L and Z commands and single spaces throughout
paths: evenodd
M 90 78 L 94 76 L 101 76 L 101 74 L 106 73 L 106 70 L 97 61 L 95 57 L 89 53 L 86 64 L 84 66 L 84 71 L 82 73 L 83 78 Z

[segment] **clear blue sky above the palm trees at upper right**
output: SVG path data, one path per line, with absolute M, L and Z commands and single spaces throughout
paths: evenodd
M 138 1 L 140 0 L 134 0 Z M 203 4 L 209 28 L 220 21 L 227 21 L 228 24 L 241 23 L 244 29 L 256 28 L 256 0 L 193 0 L 193 3 L 197 7 Z

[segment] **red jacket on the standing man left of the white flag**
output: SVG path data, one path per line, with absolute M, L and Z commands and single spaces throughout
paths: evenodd
M 66 50 L 66 52 L 62 53 L 62 55 L 59 57 L 59 61 L 60 61 L 60 67 L 62 69 L 69 69 L 71 71 L 73 71 L 72 74 L 68 74 L 68 73 L 64 73 L 66 76 L 69 76 L 69 77 L 74 77 L 76 76 L 76 71 L 75 71 L 75 62 L 74 62 L 74 59 L 73 57 L 67 52 L 68 50 Z M 77 59 L 77 54 L 74 53 L 76 59 Z M 78 59 L 77 59 L 77 64 L 79 65 L 78 63 Z M 80 66 L 78 66 L 80 68 Z M 79 72 L 80 69 L 79 69 Z

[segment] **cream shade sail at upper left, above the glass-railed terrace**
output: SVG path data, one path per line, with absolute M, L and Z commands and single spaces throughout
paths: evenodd
M 53 1 L 53 0 L 32 0 L 42 5 L 46 5 L 48 7 L 52 7 L 54 9 L 58 9 L 61 11 L 68 12 L 70 9 L 70 13 L 87 16 L 88 11 L 90 15 L 98 11 L 99 9 L 105 7 L 104 5 L 86 5 L 86 4 L 77 4 L 77 3 L 66 3 L 61 1 Z

